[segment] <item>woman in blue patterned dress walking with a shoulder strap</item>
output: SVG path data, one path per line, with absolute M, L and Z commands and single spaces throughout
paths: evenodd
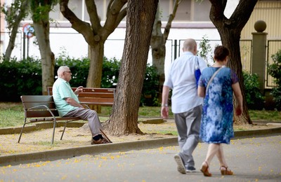
M 222 144 L 230 144 L 233 132 L 233 92 L 236 97 L 235 113 L 242 113 L 242 94 L 237 75 L 228 63 L 228 48 L 219 45 L 214 50 L 215 63 L 202 71 L 198 95 L 204 97 L 200 138 L 209 144 L 207 156 L 202 163 L 201 172 L 211 176 L 209 165 L 214 155 L 220 162 L 222 175 L 233 175 L 228 169 Z

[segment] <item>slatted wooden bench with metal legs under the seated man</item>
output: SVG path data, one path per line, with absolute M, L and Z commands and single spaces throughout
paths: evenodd
M 55 126 L 59 120 L 65 120 L 65 127 L 67 123 L 70 123 L 74 120 L 81 120 L 81 118 L 61 118 L 58 115 L 58 110 L 55 108 L 55 102 L 53 101 L 52 95 L 22 95 L 20 97 L 22 100 L 22 105 L 25 110 L 25 120 L 20 132 L 20 137 L 18 143 L 20 143 L 20 138 L 22 137 L 22 132 L 25 128 L 25 125 L 36 122 L 53 122 L 53 135 L 51 139 L 51 144 L 55 137 Z M 89 102 L 89 101 L 88 101 Z M 95 101 L 96 104 L 97 101 Z M 27 119 L 30 119 L 29 121 Z M 63 134 L 65 132 L 65 127 L 63 129 Z M 100 130 L 108 141 L 106 134 Z M 63 134 L 60 137 L 60 140 L 63 139 Z M 110 141 L 111 142 L 111 141 Z

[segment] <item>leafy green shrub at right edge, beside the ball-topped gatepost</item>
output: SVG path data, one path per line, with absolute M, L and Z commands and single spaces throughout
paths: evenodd
M 273 87 L 271 94 L 273 94 L 273 101 L 277 109 L 281 110 L 281 49 L 271 56 L 273 64 L 268 65 L 268 73 L 273 76 L 276 87 Z

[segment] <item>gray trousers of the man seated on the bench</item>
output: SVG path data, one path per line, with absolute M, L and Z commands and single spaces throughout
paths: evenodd
M 88 120 L 92 136 L 100 134 L 100 119 L 98 118 L 98 113 L 94 110 L 79 107 L 68 112 L 63 117 L 79 117 L 81 120 Z

